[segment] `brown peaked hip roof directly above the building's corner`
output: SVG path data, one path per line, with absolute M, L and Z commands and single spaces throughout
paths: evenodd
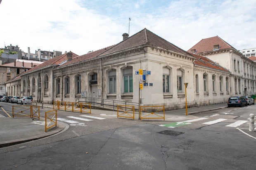
M 163 38 L 144 28 L 140 32 L 116 44 L 114 47 L 101 54 L 101 56 L 144 44 L 152 44 L 156 47 L 161 47 L 163 49 L 171 50 L 177 53 L 190 55 L 183 49 L 178 48 L 177 46 L 171 44 L 170 42 L 164 40 Z

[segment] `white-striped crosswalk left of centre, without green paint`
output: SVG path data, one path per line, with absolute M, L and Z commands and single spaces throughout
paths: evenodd
M 82 117 L 80 117 L 80 116 L 82 116 Z M 64 118 L 57 118 L 57 120 L 65 122 L 65 123 L 70 123 L 71 125 L 74 125 L 74 124 L 80 125 L 81 122 L 79 122 L 79 121 L 93 121 L 94 119 L 97 119 L 97 120 L 104 120 L 104 119 L 106 119 L 106 118 L 97 117 L 97 116 L 88 116 L 88 115 L 80 115 L 80 116 L 66 116 L 66 119 L 64 119 Z M 72 120 L 72 119 L 74 119 L 74 120 Z

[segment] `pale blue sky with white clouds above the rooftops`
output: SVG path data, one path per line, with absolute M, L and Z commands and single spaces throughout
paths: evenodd
M 187 51 L 218 35 L 256 47 L 256 0 L 2 0 L 0 47 L 86 54 L 147 28 Z

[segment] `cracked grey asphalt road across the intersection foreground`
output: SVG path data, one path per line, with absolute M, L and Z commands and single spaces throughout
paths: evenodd
M 3 107 L 9 112 L 11 106 Z M 60 111 L 59 118 L 78 123 L 70 123 L 76 125 L 59 135 L 0 149 L 0 169 L 253 170 L 256 135 L 247 128 L 255 109 L 231 107 L 164 123 L 93 119 Z M 159 134 L 163 130 L 171 130 L 171 135 Z

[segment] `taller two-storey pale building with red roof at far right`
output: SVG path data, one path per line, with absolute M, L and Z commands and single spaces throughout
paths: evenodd
M 202 39 L 188 52 L 207 57 L 230 71 L 226 81 L 230 96 L 256 93 L 256 63 L 220 37 Z

